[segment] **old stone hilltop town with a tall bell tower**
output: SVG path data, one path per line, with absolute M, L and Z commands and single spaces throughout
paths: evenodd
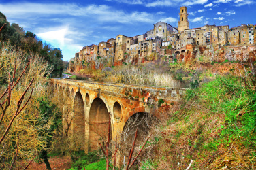
M 229 28 L 229 25 L 206 24 L 203 27 L 190 28 L 187 7 L 180 7 L 179 15 L 178 28 L 160 21 L 154 24 L 153 29 L 142 35 L 134 37 L 117 35 L 116 38 L 102 41 L 98 45 L 84 46 L 69 62 L 69 71 L 76 72 L 84 67 L 103 69 L 103 67 L 127 63 L 138 65 L 145 61 L 153 61 L 157 56 L 178 58 L 182 61 L 186 58 L 186 53 L 188 56 L 195 57 L 202 56 L 205 50 L 208 50 L 212 55 L 217 50 L 223 50 L 224 46 L 231 52 L 246 50 L 246 55 L 238 54 L 238 56 L 248 58 L 249 51 L 256 49 L 255 46 L 251 46 L 256 44 L 256 25 L 242 24 Z M 238 49 L 237 46 L 246 47 Z M 212 58 L 218 61 L 220 58 L 216 57 L 222 55 L 221 60 L 225 60 L 227 56 L 223 57 L 224 53 L 219 51 Z M 236 60 L 238 56 L 234 55 L 233 59 Z

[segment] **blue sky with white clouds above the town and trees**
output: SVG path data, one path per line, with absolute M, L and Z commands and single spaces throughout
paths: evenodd
M 229 24 L 229 28 L 256 24 L 255 0 L 0 0 L 0 11 L 10 23 L 61 48 L 67 61 L 83 46 L 118 34 L 140 35 L 159 21 L 178 27 L 182 5 L 187 6 L 191 28 L 205 24 Z

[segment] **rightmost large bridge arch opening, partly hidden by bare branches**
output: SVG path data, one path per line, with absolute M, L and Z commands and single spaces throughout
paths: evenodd
M 145 141 L 150 133 L 150 130 L 154 127 L 154 124 L 157 122 L 157 119 L 152 114 L 146 112 L 138 112 L 133 114 L 123 128 L 121 134 L 121 146 L 120 152 L 122 159 L 124 156 L 129 156 L 129 149 L 131 148 L 135 132 L 138 128 L 138 137 L 136 139 L 135 147 L 140 146 L 141 143 Z M 125 157 L 125 162 L 128 160 L 128 157 Z M 123 161 L 123 160 L 122 160 Z

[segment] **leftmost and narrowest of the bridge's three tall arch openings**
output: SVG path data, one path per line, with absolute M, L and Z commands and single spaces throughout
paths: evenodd
M 85 118 L 84 118 L 84 100 L 82 94 L 76 92 L 73 107 L 73 135 L 76 143 L 78 143 L 80 150 L 84 150 L 84 132 L 85 132 Z

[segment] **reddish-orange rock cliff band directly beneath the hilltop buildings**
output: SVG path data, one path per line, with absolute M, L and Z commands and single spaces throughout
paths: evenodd
M 182 52 L 176 54 L 178 63 L 191 63 L 193 61 L 202 63 L 221 63 L 226 60 L 245 62 L 256 61 L 256 45 L 223 46 L 217 44 L 215 46 L 195 46 L 189 44 L 185 49 L 185 52 L 182 50 Z M 124 54 L 122 58 L 117 59 L 114 57 L 96 58 L 95 61 L 91 61 L 91 63 L 84 63 L 83 61 L 80 61 L 79 58 L 72 58 L 69 61 L 69 72 L 77 73 L 80 69 L 87 68 L 96 70 L 111 66 L 121 66 L 128 63 L 138 65 L 138 63 L 159 60 L 161 56 L 168 56 L 169 58 L 174 59 L 174 52 L 173 49 L 162 49 L 161 54 L 159 52 L 152 52 L 147 56 L 130 56 L 129 54 Z

